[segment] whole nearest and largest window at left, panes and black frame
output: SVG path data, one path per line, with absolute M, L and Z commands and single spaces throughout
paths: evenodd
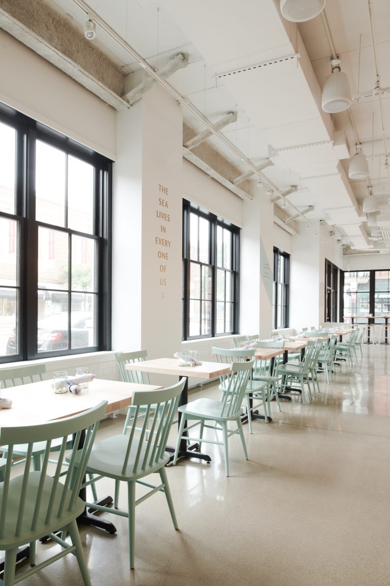
M 111 162 L 0 105 L 0 362 L 111 346 Z

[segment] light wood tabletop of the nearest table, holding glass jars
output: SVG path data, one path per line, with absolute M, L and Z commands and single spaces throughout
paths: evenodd
M 0 427 L 32 425 L 70 417 L 87 411 L 100 401 L 108 401 L 106 413 L 112 413 L 131 405 L 134 391 L 161 389 L 161 386 L 153 384 L 94 379 L 88 383 L 88 390 L 77 395 L 57 394 L 54 393 L 51 382 L 43 380 L 2 389 L 2 398 L 11 399 L 12 407 L 0 409 Z

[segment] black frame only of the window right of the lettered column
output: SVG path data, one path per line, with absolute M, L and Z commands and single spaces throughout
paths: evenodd
M 210 237 L 209 237 L 209 260 L 210 263 L 199 263 L 208 265 L 212 273 L 212 317 L 210 323 L 210 333 L 196 336 L 189 335 L 189 290 L 190 290 L 190 215 L 195 213 L 198 217 L 206 219 L 209 222 Z M 232 330 L 229 332 L 216 332 L 217 325 L 217 296 L 216 296 L 216 273 L 217 268 L 217 229 L 223 227 L 232 234 L 231 250 L 232 250 L 232 267 L 227 271 L 232 272 Z M 182 340 L 200 340 L 208 338 L 221 338 L 223 336 L 236 335 L 239 333 L 239 299 L 240 299 L 240 228 L 234 224 L 227 222 L 223 218 L 216 216 L 212 212 L 205 210 L 201 206 L 195 205 L 186 199 L 183 199 L 183 280 L 182 280 Z M 198 241 L 199 246 L 199 241 Z M 226 303 L 226 301 L 225 301 Z

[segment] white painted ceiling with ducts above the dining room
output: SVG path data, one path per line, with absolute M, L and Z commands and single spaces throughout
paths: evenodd
M 84 1 L 46 1 L 82 29 Z M 390 92 L 370 95 L 376 76 L 374 49 L 380 86 L 390 86 L 389 0 L 326 0 L 322 15 L 298 26 L 282 18 L 278 0 L 89 1 L 89 18 L 97 15 L 154 69 L 178 53 L 188 54 L 188 67 L 168 83 L 212 123 L 237 113 L 237 122 L 221 131 L 234 149 L 216 136 L 208 141 L 243 173 L 249 169 L 247 159 L 258 165 L 270 157 L 274 165 L 263 171 L 265 183 L 279 193 L 298 188 L 286 197 L 290 206 L 284 203 L 284 213 L 292 216 L 296 209 L 313 206 L 298 220 L 310 225 L 324 220 L 337 239 L 357 251 L 390 250 L 388 223 L 378 219 L 384 241 L 371 240 L 361 209 L 371 187 L 381 216 L 388 219 L 390 214 L 385 165 Z M 99 25 L 91 42 L 126 73 L 140 69 Z M 332 115 L 321 108 L 322 87 L 331 71 L 330 42 L 351 93 L 368 94 L 353 100 L 350 110 Z M 184 116 L 197 131 L 205 130 L 186 108 Z M 362 145 L 368 179 L 348 179 L 346 142 L 351 156 L 355 145 Z M 254 180 L 256 185 L 257 176 Z M 283 200 L 276 197 L 275 202 L 281 207 Z

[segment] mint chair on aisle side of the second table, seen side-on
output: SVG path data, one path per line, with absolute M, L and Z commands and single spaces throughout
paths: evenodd
M 244 394 L 247 389 L 250 374 L 252 372 L 254 360 L 248 362 L 233 362 L 230 367 L 229 383 L 227 384 L 224 397 L 221 401 L 216 401 L 210 398 L 199 398 L 187 405 L 179 407 L 181 413 L 180 427 L 177 436 L 175 455 L 173 464 L 177 462 L 177 456 L 180 448 L 180 441 L 187 440 L 188 442 L 198 442 L 199 450 L 202 442 L 207 444 L 223 445 L 223 452 L 225 455 L 225 472 L 229 476 L 229 451 L 227 441 L 233 434 L 239 434 L 241 444 L 243 446 L 245 458 L 248 459 L 247 448 L 245 444 L 243 426 L 241 424 L 241 404 L 243 402 Z M 195 423 L 187 423 L 191 421 Z M 211 425 L 206 422 L 215 422 Z M 188 431 L 196 425 L 201 426 L 199 437 L 189 437 Z M 235 424 L 236 427 L 229 428 L 228 425 Z M 204 428 L 210 430 L 222 431 L 222 441 L 212 440 L 211 438 L 203 438 Z

